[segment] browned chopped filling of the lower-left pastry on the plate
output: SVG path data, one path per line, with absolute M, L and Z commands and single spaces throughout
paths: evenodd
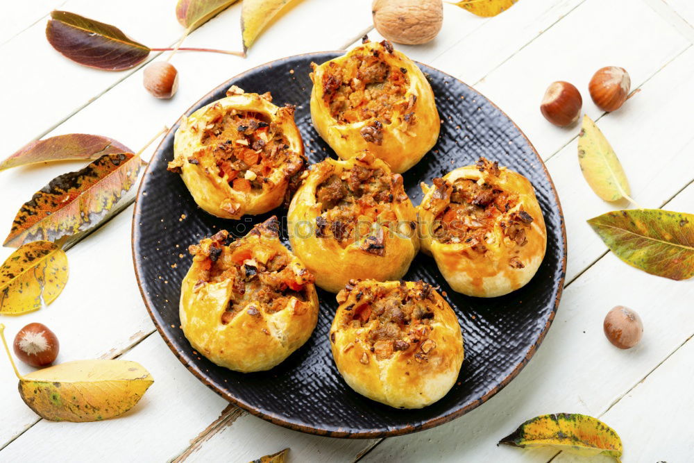
M 292 298 L 296 300 L 296 314 L 309 310 L 307 285 L 314 282 L 309 271 L 296 263 L 291 264 L 288 253 L 243 239 L 226 244 L 228 238 L 228 232 L 221 230 L 199 245 L 189 247 L 194 262 L 201 264 L 200 279 L 194 291 L 208 283 L 231 283 L 232 296 L 221 316 L 222 324 L 229 323 L 242 310 L 258 317 L 260 312 L 272 314 L 284 310 L 293 306 L 290 304 Z

